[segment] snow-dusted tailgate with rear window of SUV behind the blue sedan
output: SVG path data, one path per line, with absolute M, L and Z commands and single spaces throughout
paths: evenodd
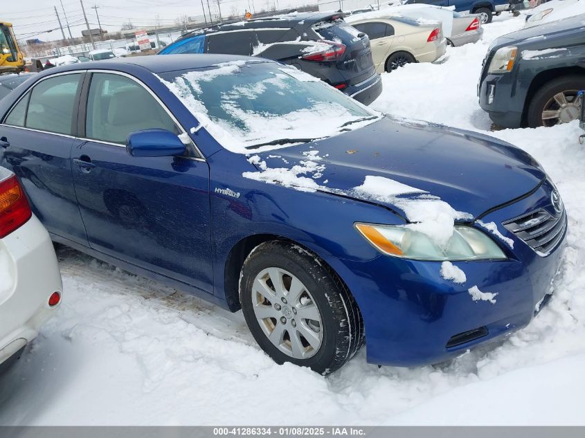
M 321 21 L 312 28 L 322 39 L 345 45 L 345 53 L 336 62 L 336 67 L 348 85 L 359 84 L 375 74 L 370 39 L 365 33 L 342 19 Z

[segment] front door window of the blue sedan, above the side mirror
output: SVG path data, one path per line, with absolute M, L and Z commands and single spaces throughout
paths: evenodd
M 129 134 L 154 128 L 180 132 L 141 84 L 112 73 L 93 74 L 87 98 L 87 138 L 125 144 Z

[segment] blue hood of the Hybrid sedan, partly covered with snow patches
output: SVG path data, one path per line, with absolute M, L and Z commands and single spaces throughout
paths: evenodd
M 534 158 L 496 138 L 389 117 L 325 140 L 253 154 L 250 161 L 264 176 L 292 170 L 302 188 L 356 199 L 363 199 L 355 189 L 366 176 L 381 176 L 473 217 L 521 197 L 546 178 Z M 402 210 L 391 201 L 374 201 Z

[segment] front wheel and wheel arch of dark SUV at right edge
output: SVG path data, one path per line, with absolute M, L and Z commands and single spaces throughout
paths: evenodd
M 541 86 L 530 100 L 526 114 L 528 126 L 554 126 L 578 120 L 582 98 L 577 98 L 577 92 L 583 89 L 585 75 L 558 77 Z

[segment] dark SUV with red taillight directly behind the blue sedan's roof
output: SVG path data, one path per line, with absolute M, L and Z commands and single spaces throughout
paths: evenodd
M 382 91 L 370 40 L 332 12 L 300 12 L 183 35 L 159 55 L 226 53 L 253 55 L 296 66 L 363 104 Z

